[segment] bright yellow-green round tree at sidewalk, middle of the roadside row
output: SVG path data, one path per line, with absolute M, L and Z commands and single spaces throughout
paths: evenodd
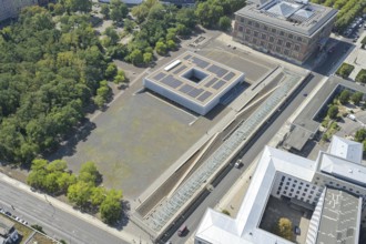
M 84 207 L 88 205 L 93 186 L 90 183 L 78 181 L 68 189 L 68 199 L 77 206 Z

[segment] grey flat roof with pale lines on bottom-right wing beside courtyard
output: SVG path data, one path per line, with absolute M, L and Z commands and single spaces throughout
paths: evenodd
M 327 189 L 316 243 L 356 243 L 360 211 L 359 197 Z

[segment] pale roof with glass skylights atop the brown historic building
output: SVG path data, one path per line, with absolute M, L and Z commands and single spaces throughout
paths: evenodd
M 251 0 L 236 12 L 237 16 L 308 37 L 336 13 L 335 9 L 309 3 L 307 0 Z

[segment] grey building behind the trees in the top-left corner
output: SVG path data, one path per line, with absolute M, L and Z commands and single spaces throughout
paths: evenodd
M 0 21 L 17 18 L 22 8 L 37 3 L 38 0 L 0 0 Z

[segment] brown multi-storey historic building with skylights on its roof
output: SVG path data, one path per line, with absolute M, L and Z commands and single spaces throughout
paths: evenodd
M 336 14 L 307 0 L 250 0 L 235 13 L 233 39 L 301 64 L 324 48 Z

